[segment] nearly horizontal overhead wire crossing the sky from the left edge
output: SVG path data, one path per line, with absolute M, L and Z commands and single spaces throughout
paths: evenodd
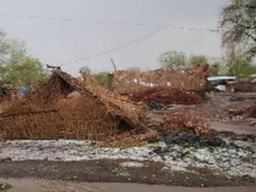
M 112 24 L 116 26 L 134 26 L 134 27 L 171 27 L 172 29 L 178 30 L 188 30 L 188 31 L 198 31 L 198 32 L 219 32 L 218 29 L 209 28 L 209 27 L 183 27 L 169 24 L 149 24 L 149 23 L 129 23 L 129 22 L 110 22 L 110 21 L 93 21 L 85 19 L 73 19 L 73 18 L 59 18 L 54 16 L 38 16 L 38 15 L 10 15 L 7 13 L 0 13 L 0 17 L 10 17 L 10 18 L 20 18 L 28 20 L 54 20 L 54 21 L 63 21 L 63 22 L 76 22 L 76 23 L 86 23 L 86 24 Z

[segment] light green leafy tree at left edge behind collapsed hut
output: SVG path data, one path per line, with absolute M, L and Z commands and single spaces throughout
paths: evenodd
M 13 40 L 0 31 L 0 78 L 5 84 L 30 85 L 46 79 L 43 65 L 27 55 L 24 41 Z

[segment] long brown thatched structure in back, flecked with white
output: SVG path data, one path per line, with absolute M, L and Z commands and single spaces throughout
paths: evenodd
M 208 65 L 188 69 L 116 71 L 111 88 L 135 101 L 196 104 L 205 98 Z

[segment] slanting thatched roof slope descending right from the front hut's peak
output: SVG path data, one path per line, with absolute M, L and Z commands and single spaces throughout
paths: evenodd
M 53 73 L 53 76 L 57 74 L 82 96 L 104 105 L 114 119 L 126 121 L 135 129 L 146 128 L 146 113 L 142 104 L 107 90 L 92 76 L 88 76 L 85 81 L 80 81 L 60 69 L 55 69 Z

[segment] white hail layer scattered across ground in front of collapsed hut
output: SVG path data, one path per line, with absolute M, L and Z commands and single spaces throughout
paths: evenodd
M 191 167 L 207 168 L 229 177 L 256 178 L 256 155 L 244 149 L 184 148 L 176 144 L 168 146 L 163 142 L 130 148 L 98 148 L 95 144 L 94 141 L 74 140 L 5 141 L 0 145 L 0 159 L 64 162 L 107 159 L 136 162 L 128 163 L 128 166 L 138 166 L 138 162 L 149 160 L 164 163 L 163 169 L 170 171 L 189 171 Z M 167 149 L 167 152 L 158 154 L 155 149 L 159 147 Z M 244 158 L 250 161 L 244 162 Z

